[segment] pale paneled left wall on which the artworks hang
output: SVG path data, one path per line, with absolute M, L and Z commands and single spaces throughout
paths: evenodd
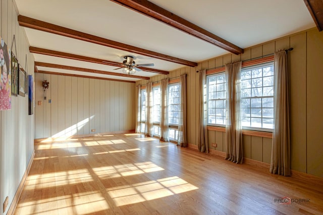
M 11 0 L 2 0 L 0 4 L 0 36 L 11 48 L 15 35 L 13 52 L 20 65 L 34 76 L 34 59 L 29 53 L 29 43 L 23 28 L 17 22 L 17 11 Z M 27 68 L 26 68 L 27 56 Z M 34 115 L 28 115 L 28 95 L 12 96 L 12 109 L 0 111 L 0 214 L 3 203 L 9 197 L 13 201 L 17 188 L 26 171 L 34 149 Z

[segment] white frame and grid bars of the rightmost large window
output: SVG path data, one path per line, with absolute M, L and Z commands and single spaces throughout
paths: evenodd
M 273 67 L 273 75 L 270 75 L 270 76 L 263 76 L 263 68 L 264 67 L 269 67 L 269 66 L 272 66 Z M 255 70 L 255 69 L 258 69 L 258 68 L 262 68 L 262 75 L 261 77 L 252 77 L 252 70 Z M 242 126 L 243 129 L 246 129 L 246 130 L 256 130 L 256 131 L 270 131 L 272 132 L 273 131 L 273 128 L 265 128 L 263 127 L 263 120 L 266 119 L 266 120 L 273 120 L 273 127 L 274 127 L 274 102 L 273 102 L 273 106 L 272 107 L 263 107 L 263 103 L 264 103 L 264 100 L 273 100 L 274 101 L 274 62 L 267 62 L 267 63 L 262 63 L 262 64 L 257 64 L 257 65 L 253 65 L 253 66 L 248 66 L 248 67 L 244 67 L 241 69 L 241 75 L 242 73 L 244 73 L 245 71 L 251 71 L 250 73 L 250 79 L 244 79 L 244 80 L 241 80 L 241 123 L 243 123 L 243 118 L 250 118 L 250 126 Z M 266 86 L 263 86 L 264 85 L 264 78 L 270 78 L 272 77 L 273 81 L 273 85 L 266 85 Z M 241 77 L 242 79 L 243 77 Z M 261 78 L 261 87 L 253 87 L 252 86 L 252 80 L 255 80 L 255 79 L 260 79 Z M 243 81 L 247 81 L 247 80 L 250 80 L 250 88 L 244 88 L 243 87 Z M 253 90 L 252 89 L 260 89 L 261 88 L 261 96 L 253 96 Z M 268 89 L 273 89 L 273 94 L 268 96 L 263 96 L 263 88 L 268 88 Z M 250 89 L 250 93 L 251 93 L 251 96 L 249 97 L 243 97 L 243 91 L 244 90 L 249 90 Z M 243 100 L 249 100 L 249 105 L 245 105 L 243 104 Z M 252 100 L 260 100 L 260 106 L 258 107 L 252 107 Z M 248 103 L 248 102 L 247 102 Z M 247 107 L 248 106 L 248 107 Z M 247 110 L 247 109 L 250 109 L 250 115 L 249 116 L 246 116 L 246 115 L 243 115 L 243 111 L 244 110 Z M 256 116 L 252 116 L 252 109 L 254 110 L 258 110 L 258 109 L 261 109 L 261 117 L 256 117 Z M 273 117 L 263 117 L 263 113 L 264 113 L 264 110 L 267 110 L 267 111 L 273 111 Z M 252 126 L 252 122 L 251 120 L 252 119 L 261 119 L 261 127 L 255 127 L 255 126 Z

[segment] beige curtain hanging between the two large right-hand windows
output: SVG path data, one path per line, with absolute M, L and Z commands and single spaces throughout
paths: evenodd
M 242 163 L 242 125 L 240 120 L 241 61 L 226 64 L 226 159 Z

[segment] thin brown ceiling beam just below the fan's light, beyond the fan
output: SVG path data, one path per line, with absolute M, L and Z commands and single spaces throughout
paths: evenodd
M 121 74 L 121 73 L 112 73 L 111 71 L 102 71 L 102 70 L 96 70 L 96 69 L 91 69 L 91 68 L 81 68 L 81 67 L 75 67 L 75 66 L 59 65 L 59 64 L 37 62 L 37 61 L 35 61 L 35 66 L 68 69 L 68 70 L 73 70 L 73 71 L 85 71 L 86 73 L 97 73 L 97 74 L 110 75 L 110 76 L 121 76 L 121 77 L 133 78 L 133 79 L 144 79 L 144 80 L 150 79 L 149 77 L 144 77 L 144 76 L 134 76 L 134 75 Z

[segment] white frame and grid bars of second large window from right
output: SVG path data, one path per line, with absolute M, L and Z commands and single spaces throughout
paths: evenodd
M 210 92 L 210 79 L 211 78 L 216 78 L 220 77 L 220 76 L 224 76 L 224 81 L 223 83 L 216 83 L 216 89 L 215 91 Z M 223 90 L 218 91 L 218 87 L 220 87 L 220 85 L 223 85 Z M 226 126 L 226 98 L 227 98 L 227 84 L 226 84 L 226 74 L 225 73 L 217 73 L 217 74 L 212 74 L 212 75 L 208 75 L 206 77 L 206 109 L 207 109 L 207 124 L 211 125 L 211 126 L 219 126 L 219 127 L 225 127 Z M 217 98 L 210 98 L 210 93 L 215 93 Z M 224 94 L 222 98 L 218 97 L 218 94 Z M 214 102 L 215 103 L 215 107 L 211 108 L 210 103 Z M 222 103 L 222 106 L 221 106 Z M 218 106 L 218 104 L 220 104 L 220 107 Z M 210 111 L 211 109 L 214 109 L 215 111 L 215 115 L 211 115 Z M 223 118 L 223 123 L 217 123 L 217 110 L 222 110 L 223 111 L 223 116 L 221 116 Z M 214 117 L 214 120 L 216 121 L 216 123 L 211 123 L 210 122 L 210 117 Z

